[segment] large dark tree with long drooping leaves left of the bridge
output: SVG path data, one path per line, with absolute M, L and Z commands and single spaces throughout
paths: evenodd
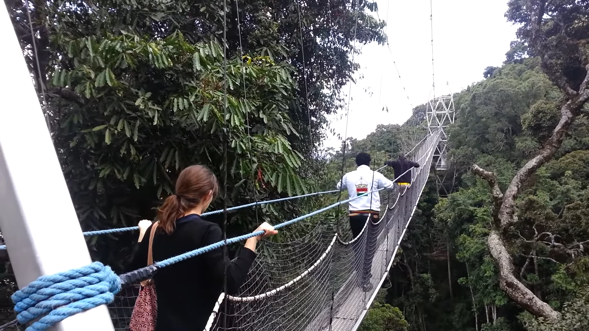
M 386 41 L 374 2 L 5 2 L 85 230 L 153 219 L 193 163 L 227 171 L 229 207 L 315 190 L 353 45 Z M 302 207 L 231 214 L 229 235 Z M 134 236 L 90 247 L 123 262 Z

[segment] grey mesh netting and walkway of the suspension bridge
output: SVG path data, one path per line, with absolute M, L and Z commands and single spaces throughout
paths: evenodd
M 367 220 L 358 237 L 352 238 L 343 210 L 336 220 L 316 214 L 311 220 L 315 227 L 296 240 L 262 241 L 239 295 L 221 293 L 204 331 L 356 330 L 388 277 L 428 180 L 439 139 L 439 132 L 428 135 L 408 155 L 421 165 L 412 170 L 411 187 L 380 190 L 379 221 Z M 360 286 L 358 271 L 364 254 L 372 257 L 368 290 Z M 110 304 L 115 330 L 128 330 L 138 292 L 138 283 L 128 286 Z

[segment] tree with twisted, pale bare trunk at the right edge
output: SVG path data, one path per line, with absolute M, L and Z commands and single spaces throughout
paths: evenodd
M 583 23 L 589 12 L 584 1 L 574 0 L 511 0 L 508 6 L 508 20 L 520 24 L 517 32 L 519 42 L 526 44 L 527 53 L 540 61 L 542 72 L 558 87 L 561 95 L 558 100 L 547 98 L 540 104 L 534 104 L 529 110 L 530 115 L 522 118 L 528 133 L 538 130 L 534 138 L 540 144 L 537 148 L 531 148 L 533 155 L 524 157 L 507 188 L 500 187 L 495 171 L 485 170 L 478 164 L 473 164 L 471 170 L 491 187 L 492 226 L 487 245 L 497 263 L 499 286 L 532 315 L 556 321 L 560 319 L 560 313 L 545 302 L 539 293 L 530 289 L 530 285 L 537 285 L 534 277 L 525 280 L 516 276 L 514 257 L 509 246 L 514 239 L 524 240 L 522 246 L 527 246 L 526 252 L 529 251 L 522 270 L 524 273 L 530 260 L 534 260 L 537 265 L 538 257 L 535 254 L 538 247 L 534 246 L 535 243 L 548 243 L 550 248 L 558 246 L 567 252 L 577 245 L 576 242 L 573 246 L 558 242 L 562 236 L 555 234 L 556 229 L 551 223 L 558 216 L 552 217 L 554 210 L 545 205 L 550 195 L 541 195 L 541 184 L 534 187 L 534 177 L 542 177 L 542 166 L 560 149 L 574 127 L 575 120 L 584 114 L 584 106 L 589 101 L 589 49 L 586 47 L 589 30 Z M 555 108 L 558 108 L 556 116 L 553 115 Z M 555 120 L 558 123 L 552 127 Z M 512 133 L 511 127 L 509 133 Z M 530 144 L 527 146 L 531 147 Z M 539 208 L 541 206 L 544 208 Z M 522 207 L 528 207 L 533 212 L 521 214 Z M 529 231 L 533 237 L 526 237 L 524 231 Z M 519 238 L 514 237 L 514 233 Z M 557 262 L 555 259 L 549 260 Z

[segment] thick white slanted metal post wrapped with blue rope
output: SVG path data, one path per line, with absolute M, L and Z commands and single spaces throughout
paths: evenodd
M 91 260 L 8 10 L 0 7 L 0 229 L 22 288 Z M 114 328 L 100 306 L 54 330 Z

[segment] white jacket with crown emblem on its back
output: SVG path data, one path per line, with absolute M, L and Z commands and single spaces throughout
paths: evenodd
M 395 185 L 393 181 L 388 180 L 383 174 L 370 170 L 369 166 L 359 166 L 356 170 L 343 175 L 342 180 L 336 185 L 337 190 L 342 187 L 342 181 L 345 183 L 343 190 L 348 190 L 349 198 L 369 191 L 376 191 L 383 187 L 390 190 Z M 372 181 L 372 185 L 370 185 L 370 181 Z M 380 192 L 357 198 L 348 204 L 350 211 L 380 211 Z

